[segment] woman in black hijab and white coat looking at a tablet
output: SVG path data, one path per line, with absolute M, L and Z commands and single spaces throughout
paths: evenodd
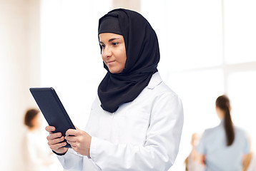
M 87 127 L 65 137 L 46 127 L 51 150 L 67 170 L 168 170 L 179 149 L 183 110 L 157 72 L 156 33 L 126 9 L 99 19 L 98 32 L 107 75 Z M 72 149 L 63 147 L 64 138 Z

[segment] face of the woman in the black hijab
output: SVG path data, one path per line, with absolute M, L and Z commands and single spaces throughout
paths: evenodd
M 100 33 L 102 60 L 111 73 L 121 73 L 127 61 L 124 37 L 115 33 Z

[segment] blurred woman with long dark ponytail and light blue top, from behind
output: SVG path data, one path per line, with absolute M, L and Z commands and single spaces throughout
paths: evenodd
M 249 152 L 247 135 L 233 125 L 230 110 L 229 98 L 226 95 L 218 97 L 216 112 L 221 123 L 205 130 L 197 146 L 207 171 L 241 171 L 243 155 Z

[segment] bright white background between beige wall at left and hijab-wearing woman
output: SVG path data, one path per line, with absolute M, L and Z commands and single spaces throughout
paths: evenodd
M 97 28 L 109 10 L 111 0 L 41 0 L 41 86 L 56 90 L 77 128 L 85 127 L 107 72 Z

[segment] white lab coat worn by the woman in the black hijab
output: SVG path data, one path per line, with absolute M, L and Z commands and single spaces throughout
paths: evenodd
M 182 102 L 159 73 L 115 113 L 102 110 L 100 104 L 96 98 L 85 128 L 92 135 L 91 158 L 69 149 L 58 156 L 64 169 L 160 171 L 173 165 L 182 133 Z

